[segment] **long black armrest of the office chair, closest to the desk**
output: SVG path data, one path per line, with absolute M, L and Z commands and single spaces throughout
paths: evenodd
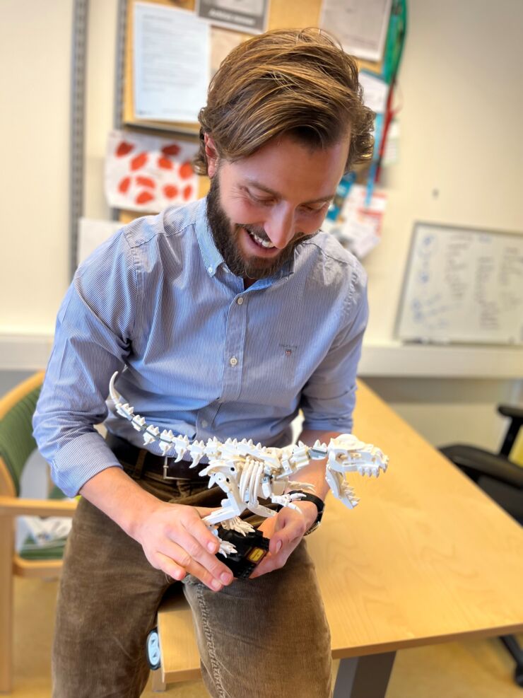
M 467 475 L 486 475 L 512 487 L 523 487 L 523 468 L 510 463 L 503 455 L 495 455 L 482 448 L 461 443 L 443 446 L 440 451 Z

